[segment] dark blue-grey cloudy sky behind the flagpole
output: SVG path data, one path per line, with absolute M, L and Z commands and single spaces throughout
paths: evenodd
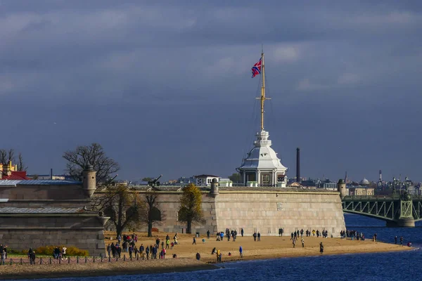
M 300 147 L 302 176 L 422 181 L 421 34 L 421 1 L 0 0 L 0 148 L 30 174 L 97 142 L 119 178 L 229 176 L 263 44 L 288 175 Z

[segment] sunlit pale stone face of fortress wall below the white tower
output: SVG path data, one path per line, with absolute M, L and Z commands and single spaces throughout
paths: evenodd
M 215 198 L 217 228 L 243 228 L 245 235 L 285 235 L 296 230 L 328 230 L 340 237 L 345 219 L 338 192 L 224 192 Z

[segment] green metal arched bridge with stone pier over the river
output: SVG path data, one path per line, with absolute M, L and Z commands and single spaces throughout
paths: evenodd
M 422 221 L 422 196 L 378 195 L 344 196 L 343 211 L 387 222 L 390 227 L 414 227 L 416 221 Z

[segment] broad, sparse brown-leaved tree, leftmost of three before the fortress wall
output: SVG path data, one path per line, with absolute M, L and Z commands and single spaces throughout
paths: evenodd
M 122 235 L 125 228 L 136 229 L 141 224 L 144 202 L 129 186 L 108 185 L 91 201 L 92 207 L 110 217 L 116 228 L 116 235 Z

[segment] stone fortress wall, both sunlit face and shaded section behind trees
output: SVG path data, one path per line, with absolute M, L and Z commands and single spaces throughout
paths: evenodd
M 259 231 L 264 236 L 285 235 L 295 230 L 328 230 L 328 235 L 340 237 L 345 230 L 345 219 L 338 192 L 298 190 L 296 188 L 220 188 L 217 195 L 203 191 L 202 209 L 205 223 L 193 223 L 192 233 L 215 235 L 226 228 L 245 235 Z M 139 191 L 140 193 L 143 193 Z M 163 216 L 155 225 L 160 232 L 186 233 L 186 223 L 177 218 L 181 191 L 156 191 Z M 106 228 L 113 229 L 109 223 Z M 143 226 L 140 231 L 148 228 Z

